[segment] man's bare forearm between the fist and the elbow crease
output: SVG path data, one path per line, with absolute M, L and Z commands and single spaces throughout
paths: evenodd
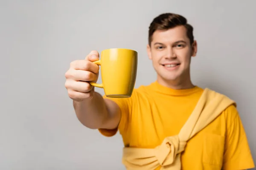
M 81 102 L 73 101 L 73 106 L 79 121 L 88 128 L 98 129 L 108 118 L 105 101 L 97 92 L 94 92 L 92 98 L 85 99 Z

